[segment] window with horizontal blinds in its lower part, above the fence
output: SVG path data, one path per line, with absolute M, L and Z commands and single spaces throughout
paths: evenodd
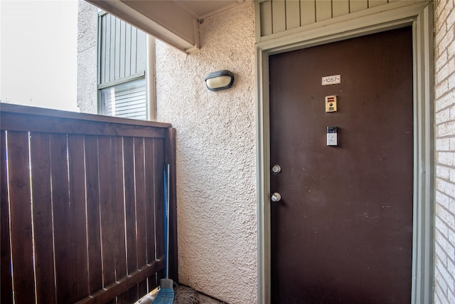
M 146 33 L 115 16 L 98 17 L 98 113 L 151 120 Z

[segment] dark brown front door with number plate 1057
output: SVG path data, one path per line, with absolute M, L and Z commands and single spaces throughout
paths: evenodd
M 269 71 L 272 303 L 410 303 L 412 28 L 274 55 Z

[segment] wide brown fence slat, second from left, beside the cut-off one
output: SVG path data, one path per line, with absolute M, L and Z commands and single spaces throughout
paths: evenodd
M 28 132 L 8 132 L 11 251 L 15 303 L 35 302 Z

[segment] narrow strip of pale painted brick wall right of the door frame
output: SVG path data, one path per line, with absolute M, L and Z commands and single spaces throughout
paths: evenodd
M 437 0 L 434 303 L 455 303 L 455 0 Z

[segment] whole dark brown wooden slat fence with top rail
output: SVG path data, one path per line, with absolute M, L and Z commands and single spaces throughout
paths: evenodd
M 165 162 L 178 278 L 170 124 L 0 107 L 1 303 L 134 303 L 156 287 Z

